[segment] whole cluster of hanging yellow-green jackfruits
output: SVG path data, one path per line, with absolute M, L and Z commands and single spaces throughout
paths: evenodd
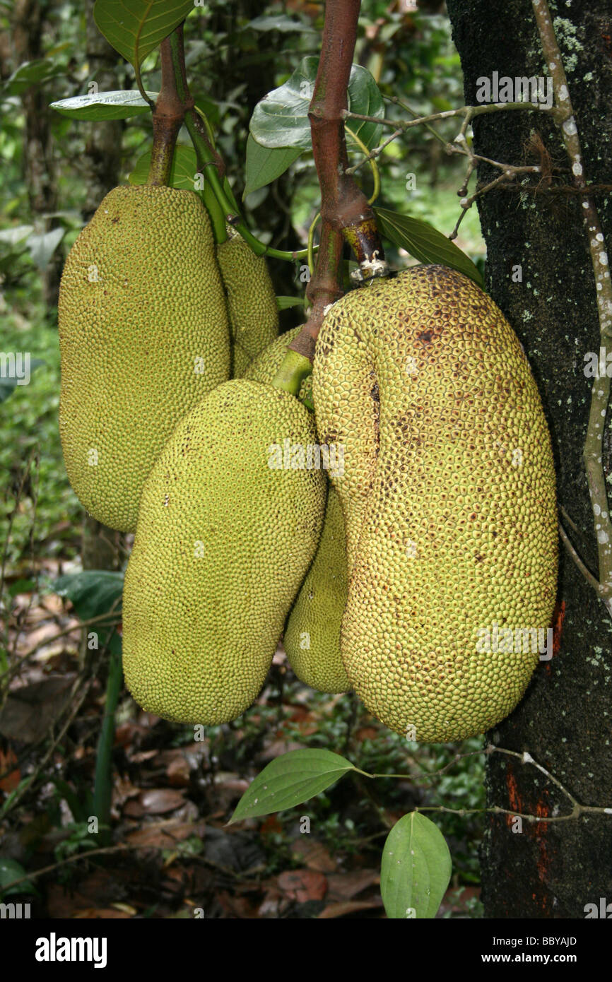
M 339 300 L 296 398 L 274 381 L 301 328 L 278 337 L 264 260 L 215 246 L 191 191 L 117 188 L 59 319 L 69 477 L 136 532 L 123 648 L 143 708 L 235 719 L 282 635 L 303 682 L 355 689 L 410 738 L 514 708 L 537 648 L 476 642 L 548 627 L 554 471 L 527 359 L 471 281 L 421 266 Z M 327 475 L 305 463 L 323 447 Z

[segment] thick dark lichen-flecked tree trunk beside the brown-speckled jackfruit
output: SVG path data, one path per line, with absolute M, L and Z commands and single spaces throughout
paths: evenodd
M 529 0 L 448 0 L 465 76 L 466 102 L 475 104 L 476 80 L 498 72 L 511 78 L 543 76 L 544 65 Z M 609 0 L 551 4 L 568 76 L 588 183 L 612 183 L 612 12 Z M 458 127 L 459 130 L 459 127 Z M 480 116 L 473 149 L 494 160 L 544 163 L 541 137 L 553 164 L 568 167 L 563 144 L 543 113 Z M 534 147 L 530 149 L 529 146 Z M 497 176 L 478 169 L 483 185 Z M 572 183 L 568 171 L 563 175 Z M 592 379 L 584 355 L 599 352 L 595 286 L 581 213 L 572 194 L 555 194 L 546 180 L 526 194 L 494 190 L 479 202 L 487 245 L 486 289 L 521 339 L 549 421 L 560 505 L 576 524 L 567 528 L 596 573 L 593 516 L 583 465 Z M 535 191 L 534 191 L 535 189 Z M 595 197 L 604 236 L 612 246 L 610 194 Z M 610 249 L 609 249 L 610 251 Z M 523 282 L 515 283 L 520 265 Z M 612 480 L 609 419 L 607 480 Z M 566 526 L 567 527 L 567 526 Z M 612 624 L 603 605 L 561 546 L 555 654 L 541 662 L 513 715 L 489 734 L 493 743 L 527 750 L 582 803 L 612 804 Z M 540 816 L 571 811 L 568 798 L 532 765 L 492 753 L 487 758 L 489 805 Z M 584 905 L 612 900 L 612 816 L 524 823 L 512 831 L 491 816 L 481 850 L 482 899 L 487 917 L 584 917 Z

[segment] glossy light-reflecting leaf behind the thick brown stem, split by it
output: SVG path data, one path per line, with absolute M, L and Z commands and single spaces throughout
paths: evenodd
M 318 59 L 308 55 L 290 79 L 268 92 L 255 106 L 250 134 L 262 146 L 310 147 L 308 107 L 314 90 Z M 361 65 L 351 69 L 349 108 L 366 116 L 384 116 L 382 96 L 370 73 Z M 349 126 L 366 146 L 376 144 L 382 128 L 376 123 L 349 120 Z

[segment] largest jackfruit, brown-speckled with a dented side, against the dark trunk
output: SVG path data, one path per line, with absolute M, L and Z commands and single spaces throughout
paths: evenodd
M 345 445 L 349 680 L 404 736 L 481 734 L 523 696 L 555 601 L 555 474 L 521 345 L 471 280 L 418 266 L 333 305 L 312 389 L 319 439 Z

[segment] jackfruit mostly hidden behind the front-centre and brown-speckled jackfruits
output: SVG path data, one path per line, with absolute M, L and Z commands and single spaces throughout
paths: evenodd
M 271 383 L 302 330 L 295 327 L 273 341 L 251 362 L 246 378 Z M 308 376 L 300 395 L 306 391 Z M 346 692 L 351 686 L 340 657 L 340 626 L 347 600 L 348 574 L 344 518 L 337 492 L 328 486 L 323 531 L 296 598 L 283 637 L 289 663 L 301 680 L 321 692 Z

